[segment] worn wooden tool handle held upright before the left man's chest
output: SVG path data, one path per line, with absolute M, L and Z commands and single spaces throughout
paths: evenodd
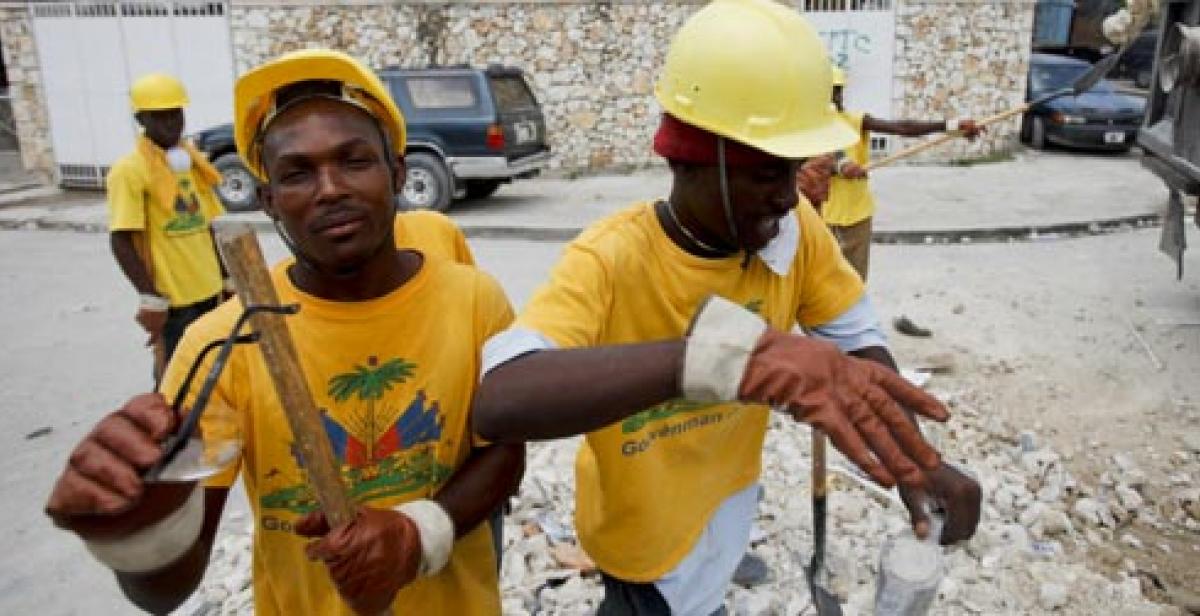
M 216 238 L 242 305 L 278 305 L 280 298 L 253 229 L 245 223 L 218 225 Z M 284 315 L 258 312 L 250 324 L 259 334 L 258 348 L 288 418 L 308 483 L 330 527 L 336 528 L 354 520 L 354 503 L 346 494 L 337 459 L 322 426 L 286 318 Z

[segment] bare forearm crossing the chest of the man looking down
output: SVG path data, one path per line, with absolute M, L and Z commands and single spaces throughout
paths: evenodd
M 547 349 L 490 372 L 475 395 L 492 442 L 562 438 L 604 427 L 679 395 L 682 340 Z

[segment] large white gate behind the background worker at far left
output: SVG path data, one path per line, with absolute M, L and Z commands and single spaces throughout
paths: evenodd
M 34 36 L 60 180 L 101 186 L 133 148 L 130 84 L 149 72 L 187 88 L 187 131 L 233 118 L 229 7 L 203 1 L 38 2 Z

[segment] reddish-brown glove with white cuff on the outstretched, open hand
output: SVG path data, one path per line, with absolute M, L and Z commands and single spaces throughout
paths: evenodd
M 684 396 L 770 405 L 812 425 L 878 484 L 924 488 L 940 456 L 901 409 L 944 421 L 936 399 L 887 367 L 829 342 L 772 330 L 752 312 L 713 297 L 692 321 Z

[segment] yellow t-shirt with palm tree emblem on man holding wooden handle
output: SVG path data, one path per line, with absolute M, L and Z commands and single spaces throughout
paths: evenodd
M 437 494 L 472 450 L 469 409 L 484 341 L 512 319 L 500 287 L 442 258 L 426 258 L 401 288 L 370 301 L 307 295 L 282 264 L 272 279 L 281 301 L 301 306 L 287 317 L 288 329 L 352 498 L 391 508 Z M 240 310 L 227 301 L 187 329 L 167 371 L 168 399 L 203 345 L 228 335 Z M 349 616 L 325 567 L 305 557 L 307 539 L 292 532 L 317 503 L 257 348 L 235 348 L 200 426 L 242 437 L 239 461 L 209 485 L 230 485 L 240 468 L 254 515 L 256 614 Z M 392 609 L 499 614 L 488 525 L 458 539 L 446 568 L 401 590 Z

